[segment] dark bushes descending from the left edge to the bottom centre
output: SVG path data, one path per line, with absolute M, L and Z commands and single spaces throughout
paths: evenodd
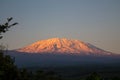
M 61 80 L 53 71 L 18 69 L 15 59 L 0 51 L 0 80 Z

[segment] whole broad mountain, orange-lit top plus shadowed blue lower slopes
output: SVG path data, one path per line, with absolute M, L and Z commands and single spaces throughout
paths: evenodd
M 19 67 L 60 67 L 78 65 L 117 65 L 120 55 L 102 50 L 80 40 L 52 38 L 7 51 Z

